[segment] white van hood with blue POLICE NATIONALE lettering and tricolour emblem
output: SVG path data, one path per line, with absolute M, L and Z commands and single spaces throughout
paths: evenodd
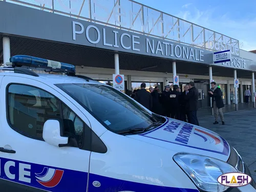
M 151 131 L 127 137 L 167 148 L 174 154 L 194 153 L 222 161 L 227 161 L 230 155 L 229 144 L 220 135 L 200 126 L 170 118 Z

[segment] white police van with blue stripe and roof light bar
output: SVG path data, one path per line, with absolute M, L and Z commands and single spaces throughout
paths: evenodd
M 250 173 L 214 132 L 153 114 L 76 75 L 73 65 L 25 55 L 7 64 L 0 73 L 1 192 L 256 191 L 254 181 L 218 183 L 224 173 Z

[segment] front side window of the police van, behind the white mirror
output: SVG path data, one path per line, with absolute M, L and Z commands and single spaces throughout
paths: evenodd
M 82 146 L 84 123 L 66 104 L 39 88 L 22 84 L 8 87 L 8 121 L 16 132 L 44 140 L 44 123 L 56 118 L 62 121 L 63 136 L 76 138 L 77 147 Z

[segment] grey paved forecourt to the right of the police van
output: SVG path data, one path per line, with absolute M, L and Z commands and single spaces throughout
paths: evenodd
M 199 117 L 200 126 L 225 138 L 242 156 L 256 181 L 256 109 L 224 114 L 225 125 L 215 125 L 214 117 Z

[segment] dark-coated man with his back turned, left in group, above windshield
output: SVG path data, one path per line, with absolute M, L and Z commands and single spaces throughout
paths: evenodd
M 152 96 L 150 92 L 146 91 L 146 83 L 141 83 L 141 89 L 136 93 L 134 99 L 145 106 L 148 110 L 152 110 Z

